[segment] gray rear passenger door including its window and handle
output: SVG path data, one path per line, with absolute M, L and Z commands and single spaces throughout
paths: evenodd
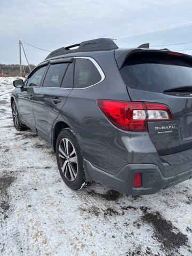
M 72 59 L 50 62 L 43 85 L 34 95 L 36 129 L 51 137 L 52 125 L 73 88 Z

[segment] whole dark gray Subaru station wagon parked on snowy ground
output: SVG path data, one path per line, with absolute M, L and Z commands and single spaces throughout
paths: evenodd
M 52 145 L 69 188 L 145 195 L 192 177 L 190 55 L 99 38 L 51 52 L 13 85 L 15 128 Z

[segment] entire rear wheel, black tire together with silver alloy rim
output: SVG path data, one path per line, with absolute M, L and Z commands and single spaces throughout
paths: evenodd
M 68 148 L 68 149 L 67 149 Z M 61 178 L 73 190 L 86 187 L 81 149 L 74 133 L 63 129 L 57 138 L 56 156 Z

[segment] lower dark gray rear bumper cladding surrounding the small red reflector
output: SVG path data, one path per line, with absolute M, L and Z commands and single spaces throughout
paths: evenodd
M 85 159 L 84 167 L 87 180 L 97 181 L 127 195 L 154 194 L 161 189 L 192 178 L 192 166 L 190 170 L 168 178 L 164 177 L 159 167 L 155 164 L 127 164 L 115 175 L 98 169 Z M 142 187 L 134 188 L 134 177 L 135 173 L 138 172 L 142 173 Z

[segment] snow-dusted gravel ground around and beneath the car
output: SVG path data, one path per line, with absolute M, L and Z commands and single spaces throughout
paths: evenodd
M 0 78 L 2 256 L 192 254 L 191 180 L 137 197 L 98 183 L 70 190 L 50 145 L 14 129 L 11 81 Z

